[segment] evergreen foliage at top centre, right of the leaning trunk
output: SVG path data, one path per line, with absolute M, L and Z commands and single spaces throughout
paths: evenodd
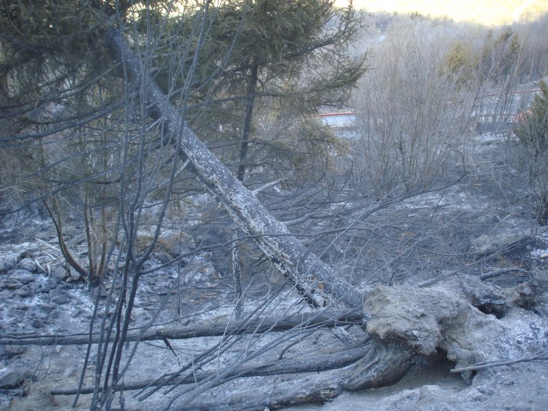
M 192 13 L 181 16 L 186 23 L 175 27 L 189 29 L 193 18 Z M 219 155 L 234 164 L 238 178 L 249 170 L 272 169 L 278 159 L 269 161 L 271 155 L 282 147 L 293 148 L 286 156 L 301 151 L 303 142 L 295 137 L 301 133 L 280 129 L 273 135 L 266 118 L 279 124 L 289 116 L 291 129 L 300 121 L 302 130 L 316 127 L 316 134 L 325 135 L 304 114 L 323 105 L 340 106 L 349 98 L 364 72 L 364 59 L 347 49 L 358 26 L 351 8 L 337 9 L 326 0 L 230 1 L 210 10 L 208 35 L 200 43 L 196 34 L 191 42 L 202 48 L 199 81 L 191 92 L 200 109 L 193 125 L 210 145 L 223 146 Z M 192 38 L 191 33 L 186 36 Z M 181 60 L 173 54 L 170 58 Z M 159 76 L 166 90 L 182 87 L 173 80 L 167 85 L 166 75 Z M 333 136 L 330 140 L 336 143 Z M 316 140 L 316 145 L 324 144 L 323 138 Z M 310 159 L 317 160 L 314 155 Z

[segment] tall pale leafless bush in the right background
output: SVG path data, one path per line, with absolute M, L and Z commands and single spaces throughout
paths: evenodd
M 444 72 L 448 47 L 436 27 L 403 21 L 375 49 L 354 100 L 360 166 L 374 190 L 426 188 L 462 158 L 471 97 Z

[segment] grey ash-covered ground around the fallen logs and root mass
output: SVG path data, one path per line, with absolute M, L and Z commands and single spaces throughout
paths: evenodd
M 364 272 L 358 279 L 353 276 L 356 288 L 365 291 L 373 284 L 420 284 L 436 276 L 458 276 L 460 273 L 479 276 L 508 269 L 485 281 L 510 290 L 531 281 L 548 268 L 548 232 L 515 212 L 521 198 L 519 185 L 506 198 L 501 197 L 503 191 L 497 185 L 499 173 L 505 172 L 501 159 L 508 144 L 500 136 L 483 136 L 475 148 L 475 163 L 458 184 L 406 199 L 375 214 L 370 221 L 375 227 L 384 227 L 388 221 L 393 224 L 383 232 L 386 234 L 384 240 L 382 236 L 376 236 L 374 241 L 370 238 L 370 242 L 362 247 L 369 252 L 369 258 L 364 260 L 363 266 L 353 268 L 356 272 Z M 216 207 L 213 201 L 209 207 Z M 193 213 L 205 212 L 198 210 L 197 207 Z M 201 218 L 197 214 L 194 217 L 197 220 Z M 21 217 L 20 221 L 12 217 L 5 219 L 2 225 L 0 338 L 38 338 L 42 335 L 86 338 L 95 294 L 77 273 L 63 264 L 53 227 L 45 219 L 29 215 Z M 174 221 L 169 230 L 173 232 L 180 228 Z M 132 329 L 138 331 L 147 324 L 152 324 L 152 329 L 178 329 L 234 323 L 235 292 L 229 271 L 228 248 L 204 247 L 214 245 L 216 238 L 228 237 L 230 227 L 221 224 L 216 227 L 217 231 L 210 229 L 208 232 L 192 231 L 188 227 L 183 229 L 186 247 L 199 251 L 184 264 L 171 264 L 142 277 Z M 219 234 L 221 232 L 223 235 Z M 71 233 L 74 238 L 78 235 L 77 230 Z M 345 247 L 351 249 L 354 245 Z M 500 248 L 503 252 L 491 256 L 493 249 Z M 84 253 L 85 250 L 79 251 Z M 164 260 L 165 256 L 158 253 L 149 264 L 160 266 Z M 283 279 L 273 271 L 263 270 L 263 266 L 254 266 L 255 271 L 246 273 L 244 277 L 245 313 L 257 310 L 261 304 L 264 313 L 271 316 L 306 310 L 295 292 L 288 288 L 279 291 Z M 105 289 L 95 291 L 104 293 L 99 298 L 101 314 L 97 322 L 103 319 L 104 312 L 108 317 L 110 310 L 105 310 L 105 296 L 117 286 L 105 279 Z M 507 338 L 497 340 L 500 336 L 491 336 L 487 332 L 482 335 L 486 340 L 499 341 L 501 346 L 508 345 L 506 351 L 499 351 L 508 353 L 508 358 L 499 360 L 515 360 L 546 349 L 548 307 L 543 308 L 545 300 L 539 298 L 536 305 L 512 308 L 506 316 L 496 319 L 509 330 Z M 266 344 L 282 347 L 275 345 L 281 334 L 266 335 L 260 343 L 258 340 L 252 344 L 251 340 L 242 341 L 253 349 Z M 366 337 L 358 327 L 354 327 L 350 334 L 355 342 Z M 128 366 L 124 383 L 150 381 L 176 372 L 181 364 L 214 347 L 221 338 L 171 340 L 171 349 L 162 340 L 142 342 Z M 329 329 L 319 330 L 302 340 L 293 336 L 289 343 L 290 347 L 284 348 L 284 356 L 289 358 L 314 356 L 310 351 L 312 346 L 321 353 L 347 348 Z M 77 387 L 86 349 L 86 344 L 21 345 L 13 340 L 8 345 L 0 345 L 0 408 L 71 409 L 73 395 L 51 395 L 51 390 Z M 126 351 L 129 353 L 131 349 Z M 226 358 L 219 356 L 219 361 L 209 364 L 210 369 L 229 364 L 237 352 L 228 352 Z M 127 353 L 123 364 L 128 359 Z M 265 353 L 263 358 L 273 360 L 278 355 L 279 351 L 273 350 Z M 545 389 L 548 382 L 547 356 L 545 353 L 540 360 L 484 369 L 464 379 L 459 374 L 449 373 L 455 364 L 440 352 L 415 364 L 393 386 L 343 393 L 324 406 L 289 409 L 543 410 L 548 403 Z M 92 386 L 94 369 L 94 357 L 91 356 L 84 377 L 85 387 Z M 329 378 L 329 373 L 325 375 Z M 274 386 L 292 378 L 295 375 L 246 377 L 213 388 L 207 395 L 221 399 L 233 390 Z M 147 401 L 160 403 L 163 393 L 160 390 Z M 129 409 L 138 404 L 134 394 L 126 391 L 121 395 Z M 120 396 L 116 401 L 116 404 L 120 403 Z M 73 409 L 89 407 L 90 395 L 86 394 L 81 395 Z

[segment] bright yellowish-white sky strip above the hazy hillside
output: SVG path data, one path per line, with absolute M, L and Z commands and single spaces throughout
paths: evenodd
M 336 0 L 347 5 L 348 0 Z M 420 12 L 431 16 L 448 16 L 454 21 L 471 21 L 485 25 L 512 23 L 535 8 L 548 12 L 547 0 L 354 0 L 356 8 L 370 12 Z

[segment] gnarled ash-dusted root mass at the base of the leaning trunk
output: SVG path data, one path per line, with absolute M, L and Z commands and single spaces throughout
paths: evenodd
M 530 292 L 532 287 L 516 289 Z M 512 321 L 501 321 L 485 310 L 486 301 L 500 296 L 496 287 L 468 275 L 429 288 L 377 286 L 364 299 L 366 331 L 373 338 L 399 341 L 421 356 L 443 351 L 456 362 L 452 372 L 465 377 L 491 366 L 545 358 L 544 349 L 519 360 L 500 361 L 523 343 L 521 327 L 516 331 Z M 525 321 L 523 313 L 518 315 L 519 321 Z

